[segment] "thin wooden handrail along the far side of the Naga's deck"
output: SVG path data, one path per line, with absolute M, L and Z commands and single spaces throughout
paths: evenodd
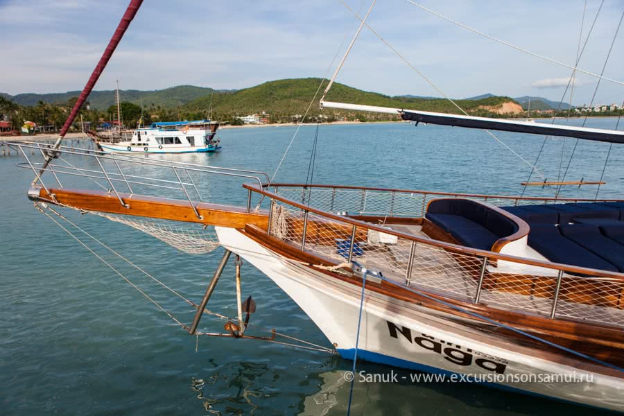
M 288 184 L 277 183 L 266 185 L 266 188 L 278 187 L 278 188 L 329 188 L 329 189 L 356 189 L 365 191 L 386 191 L 386 192 L 400 192 L 400 193 L 419 193 L 421 195 L 440 195 L 440 196 L 457 196 L 462 198 L 498 198 L 507 200 L 540 200 L 540 201 L 570 201 L 570 202 L 623 202 L 619 199 L 587 199 L 587 198 L 548 198 L 544 196 L 510 196 L 510 195 L 485 195 L 483 193 L 453 193 L 453 192 L 435 192 L 435 191 L 422 191 L 419 189 L 393 189 L 393 188 L 371 188 L 371 187 L 355 187 L 350 185 L 330 185 L 330 184 Z

